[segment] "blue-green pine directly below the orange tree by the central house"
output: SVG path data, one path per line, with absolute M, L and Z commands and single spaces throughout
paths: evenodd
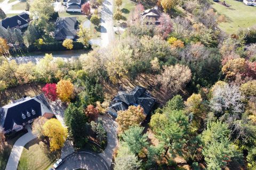
M 139 126 L 132 126 L 121 135 L 124 145 L 129 148 L 132 154 L 139 154 L 143 148 L 149 145 L 147 134 L 142 134 L 143 129 Z

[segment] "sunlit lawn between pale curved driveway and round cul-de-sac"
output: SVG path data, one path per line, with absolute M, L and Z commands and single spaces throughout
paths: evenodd
M 56 159 L 60 158 L 60 151 L 50 152 L 49 149 L 45 149 L 44 151 L 42 144 L 42 141 L 34 139 L 25 145 L 20 157 L 18 170 L 45 170 L 51 166 Z

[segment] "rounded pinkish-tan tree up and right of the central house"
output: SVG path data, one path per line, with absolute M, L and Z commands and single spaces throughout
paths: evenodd
M 191 79 L 191 71 L 185 65 L 164 66 L 164 71 L 158 75 L 157 81 L 161 83 L 162 88 L 178 92 Z

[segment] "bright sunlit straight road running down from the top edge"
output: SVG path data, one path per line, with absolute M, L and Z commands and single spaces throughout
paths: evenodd
M 101 11 L 101 46 L 106 47 L 115 39 L 113 21 L 113 0 L 105 0 Z

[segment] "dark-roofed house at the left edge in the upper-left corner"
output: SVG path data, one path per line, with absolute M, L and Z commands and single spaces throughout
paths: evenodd
M 14 15 L 10 18 L 6 18 L 2 21 L 0 21 L 0 26 L 2 28 L 7 29 L 8 27 L 10 29 L 14 28 L 26 28 L 28 27 L 28 23 L 30 21 L 29 14 L 27 12 L 22 12 L 19 15 Z

